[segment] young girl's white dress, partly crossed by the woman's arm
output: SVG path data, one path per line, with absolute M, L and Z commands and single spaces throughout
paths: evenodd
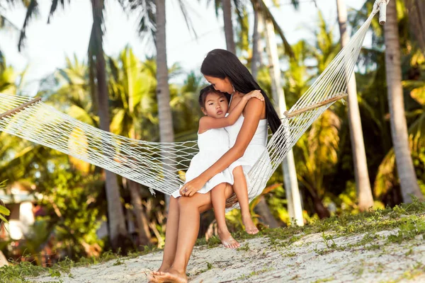
M 229 150 L 229 134 L 224 128 L 208 129 L 207 132 L 198 134 L 198 148 L 199 152 L 193 156 L 191 165 L 186 172 L 186 183 L 210 168 Z M 198 192 L 205 194 L 221 183 L 233 185 L 233 175 L 229 168 L 212 177 Z M 175 198 L 180 197 L 180 189 L 171 195 Z

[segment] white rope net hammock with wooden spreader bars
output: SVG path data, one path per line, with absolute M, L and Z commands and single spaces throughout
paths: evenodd
M 377 0 L 373 12 L 308 91 L 285 112 L 267 150 L 248 173 L 249 200 L 259 195 L 312 122 L 344 98 L 373 16 L 388 0 Z M 381 14 L 382 16 L 382 14 Z M 56 149 L 125 178 L 171 195 L 184 183 L 184 173 L 198 152 L 196 141 L 159 143 L 121 137 L 76 120 L 41 102 L 0 93 L 0 131 Z

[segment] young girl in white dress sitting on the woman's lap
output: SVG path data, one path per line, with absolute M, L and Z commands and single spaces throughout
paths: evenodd
M 242 115 L 242 110 L 244 110 L 250 98 L 264 100 L 260 91 L 251 91 L 251 93 L 246 94 L 246 96 L 235 106 L 234 110 L 226 116 L 229 101 L 225 93 L 215 91 L 213 86 L 207 86 L 200 91 L 199 104 L 205 116 L 201 117 L 199 120 L 199 152 L 196 156 L 193 156 L 191 165 L 186 172 L 186 183 L 198 177 L 200 173 L 203 173 L 203 171 L 208 169 L 229 150 L 229 134 L 224 128 L 233 125 L 239 119 L 239 116 Z M 229 185 L 243 187 L 244 190 L 247 190 L 242 166 L 237 166 L 233 171 L 230 171 L 229 168 L 225 169 L 225 171 L 211 178 L 198 191 L 186 191 L 181 189 L 176 190 L 172 196 L 180 197 L 184 195 L 186 197 L 191 197 L 196 192 L 205 194 L 211 191 L 212 207 L 214 208 L 215 219 L 217 220 L 218 226 L 218 236 L 226 248 L 238 248 L 240 245 L 232 238 L 232 235 L 227 229 L 225 220 L 225 190 L 226 186 Z M 256 226 L 251 220 L 248 203 L 246 203 L 246 205 L 242 204 L 240 207 L 246 232 L 258 233 L 258 229 L 256 229 Z

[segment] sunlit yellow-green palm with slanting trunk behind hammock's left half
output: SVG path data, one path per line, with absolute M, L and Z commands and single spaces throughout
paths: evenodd
M 131 139 L 148 139 L 149 137 L 143 134 L 142 128 L 149 127 L 148 124 L 154 124 L 154 117 L 150 115 L 154 105 L 154 98 L 151 96 L 154 78 L 144 70 L 142 62 L 129 47 L 121 52 L 118 62 L 109 59 L 109 64 L 110 69 L 113 70 L 109 88 L 111 97 L 115 100 L 114 116 L 111 122 L 112 132 Z M 132 207 L 136 216 L 139 243 L 145 246 L 152 241 L 152 237 L 149 222 L 142 207 L 140 194 L 142 186 L 132 180 L 127 180 L 126 184 L 130 190 Z

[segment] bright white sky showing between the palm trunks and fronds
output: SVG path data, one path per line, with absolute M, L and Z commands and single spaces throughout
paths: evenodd
M 2 0 L 0 0 L 2 1 Z M 369 0 L 373 1 L 373 0 Z M 11 30 L 0 32 L 0 47 L 6 61 L 17 71 L 28 67 L 26 91 L 34 95 L 40 79 L 52 74 L 57 68 L 64 67 L 65 57 L 74 54 L 86 61 L 91 24 L 91 4 L 89 0 L 65 1 L 65 8 L 58 11 L 47 24 L 51 1 L 40 2 L 39 14 L 30 21 L 27 29 L 26 47 L 19 53 L 17 49 L 18 33 Z M 225 35 L 222 13 L 215 16 L 213 1 L 186 0 L 188 11 L 198 34 L 198 40 L 189 33 L 178 0 L 166 0 L 166 44 L 168 64 L 179 62 L 185 71 L 200 68 L 208 51 L 215 48 L 225 49 Z M 290 6 L 290 0 L 280 0 L 280 8 L 271 11 L 292 44 L 302 38 L 312 39 L 314 25 L 317 25 L 317 8 L 310 0 L 300 1 L 299 11 Z M 364 1 L 346 0 L 348 8 L 360 8 Z M 331 25 L 336 25 L 336 0 L 317 0 L 318 8 Z M 8 11 L 6 17 L 19 28 L 23 25 L 26 9 L 16 6 Z M 137 15 L 128 17 L 123 13 L 118 1 L 106 0 L 106 35 L 104 50 L 115 56 L 126 45 L 130 45 L 140 59 L 154 54 L 153 45 L 145 45 L 136 33 Z M 339 30 L 335 29 L 339 36 Z

